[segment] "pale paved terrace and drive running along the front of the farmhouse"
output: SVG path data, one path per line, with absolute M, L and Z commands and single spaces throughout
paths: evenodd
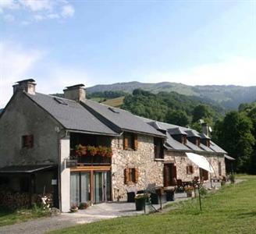
M 236 183 L 241 180 L 236 181 Z M 210 183 L 204 184 L 204 186 L 210 187 Z M 220 183 L 213 183 L 213 186 L 218 188 Z M 166 204 L 173 202 L 179 202 L 180 200 L 187 200 L 186 193 L 176 193 L 175 201 L 169 201 Z M 154 205 L 156 209 L 159 209 L 160 205 Z M 149 209 L 147 208 L 147 211 Z M 109 202 L 102 204 L 95 204 L 88 207 L 86 210 L 81 210 L 76 213 L 64 213 L 51 218 L 38 218 L 29 222 L 22 222 L 15 225 L 6 225 L 0 227 L 0 233 L 34 233 L 41 234 L 50 232 L 56 229 L 63 229 L 72 225 L 85 224 L 90 222 L 97 222 L 108 218 L 117 218 L 121 216 L 130 215 L 143 215 L 144 211 L 135 211 L 134 203 L 126 202 Z

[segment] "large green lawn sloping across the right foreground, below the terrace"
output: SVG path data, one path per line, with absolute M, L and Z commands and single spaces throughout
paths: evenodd
M 256 233 L 256 176 L 203 199 L 176 204 L 163 214 L 109 219 L 51 233 Z

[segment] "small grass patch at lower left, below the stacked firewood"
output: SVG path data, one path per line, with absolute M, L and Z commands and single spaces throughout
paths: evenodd
M 12 225 L 17 222 L 25 222 L 33 218 L 41 218 L 49 216 L 47 211 L 37 210 L 21 210 L 21 211 L 4 211 L 0 209 L 0 226 Z

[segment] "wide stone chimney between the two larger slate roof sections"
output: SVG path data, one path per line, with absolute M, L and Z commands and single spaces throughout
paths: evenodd
M 70 99 L 74 101 L 84 101 L 84 102 L 86 100 L 86 91 L 83 83 L 66 87 L 66 89 L 63 91 L 64 91 L 64 97 L 66 99 Z

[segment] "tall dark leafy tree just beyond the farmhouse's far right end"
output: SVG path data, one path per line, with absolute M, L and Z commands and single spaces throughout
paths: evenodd
M 237 172 L 248 172 L 254 151 L 251 119 L 240 112 L 229 112 L 215 125 L 217 143 L 236 158 Z

